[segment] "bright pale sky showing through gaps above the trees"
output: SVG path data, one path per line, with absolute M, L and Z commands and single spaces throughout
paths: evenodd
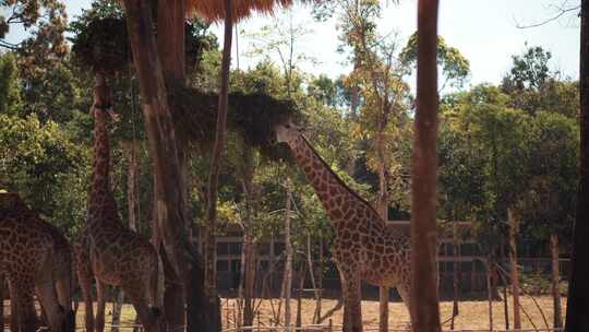
M 387 4 L 388 2 L 388 4 Z M 383 35 L 396 38 L 405 45 L 409 35 L 417 27 L 417 0 L 400 0 L 400 4 L 384 0 L 384 12 L 378 22 L 378 31 Z M 521 54 L 529 46 L 542 46 L 552 52 L 552 70 L 558 70 L 564 76 L 578 78 L 579 67 L 579 19 L 576 12 L 534 28 L 518 28 L 519 24 L 533 24 L 553 16 L 555 5 L 572 7 L 578 0 L 441 0 L 438 16 L 438 34 L 446 44 L 458 50 L 470 61 L 470 84 L 482 82 L 497 84 L 508 72 L 512 56 Z M 70 20 L 89 7 L 89 0 L 65 1 Z M 302 25 L 310 31 L 296 45 L 300 52 L 312 56 L 315 62 L 301 63 L 301 68 L 310 73 L 325 73 L 336 78 L 350 70 L 346 56 L 338 54 L 337 20 L 314 22 L 309 7 L 297 5 L 292 9 L 293 25 Z M 278 16 L 287 16 L 284 10 Z M 238 24 L 239 31 L 248 33 L 260 31 L 277 20 L 267 15 L 254 15 Z M 213 32 L 219 36 L 223 45 L 223 25 L 214 25 Z M 14 29 L 11 39 L 22 38 L 23 33 Z M 233 40 L 235 42 L 235 40 Z M 240 33 L 238 36 L 239 56 L 233 43 L 232 67 L 237 58 L 241 69 L 255 64 L 259 58 L 248 56 L 252 49 L 252 38 Z M 274 52 L 273 59 L 278 60 Z

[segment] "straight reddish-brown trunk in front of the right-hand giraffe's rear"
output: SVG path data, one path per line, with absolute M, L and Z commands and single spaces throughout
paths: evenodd
M 436 269 L 437 0 L 418 2 L 410 311 L 414 331 L 442 331 Z

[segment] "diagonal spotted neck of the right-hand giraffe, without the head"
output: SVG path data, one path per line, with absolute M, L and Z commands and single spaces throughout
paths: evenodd
M 384 223 L 376 211 L 332 170 L 302 134 L 288 144 L 334 225 L 350 220 L 359 209 L 364 211 L 370 222 Z

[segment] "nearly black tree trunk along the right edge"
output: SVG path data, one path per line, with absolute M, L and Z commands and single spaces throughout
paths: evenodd
M 573 259 L 566 305 L 567 332 L 589 331 L 589 0 L 581 0 L 580 26 L 580 167 Z

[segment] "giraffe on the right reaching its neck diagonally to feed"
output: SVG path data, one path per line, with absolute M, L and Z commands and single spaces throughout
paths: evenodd
M 344 294 L 344 331 L 361 332 L 361 281 L 397 287 L 409 308 L 411 241 L 408 225 L 385 223 L 374 208 L 332 170 L 292 123 L 275 127 L 326 210 L 336 238 L 333 259 Z

